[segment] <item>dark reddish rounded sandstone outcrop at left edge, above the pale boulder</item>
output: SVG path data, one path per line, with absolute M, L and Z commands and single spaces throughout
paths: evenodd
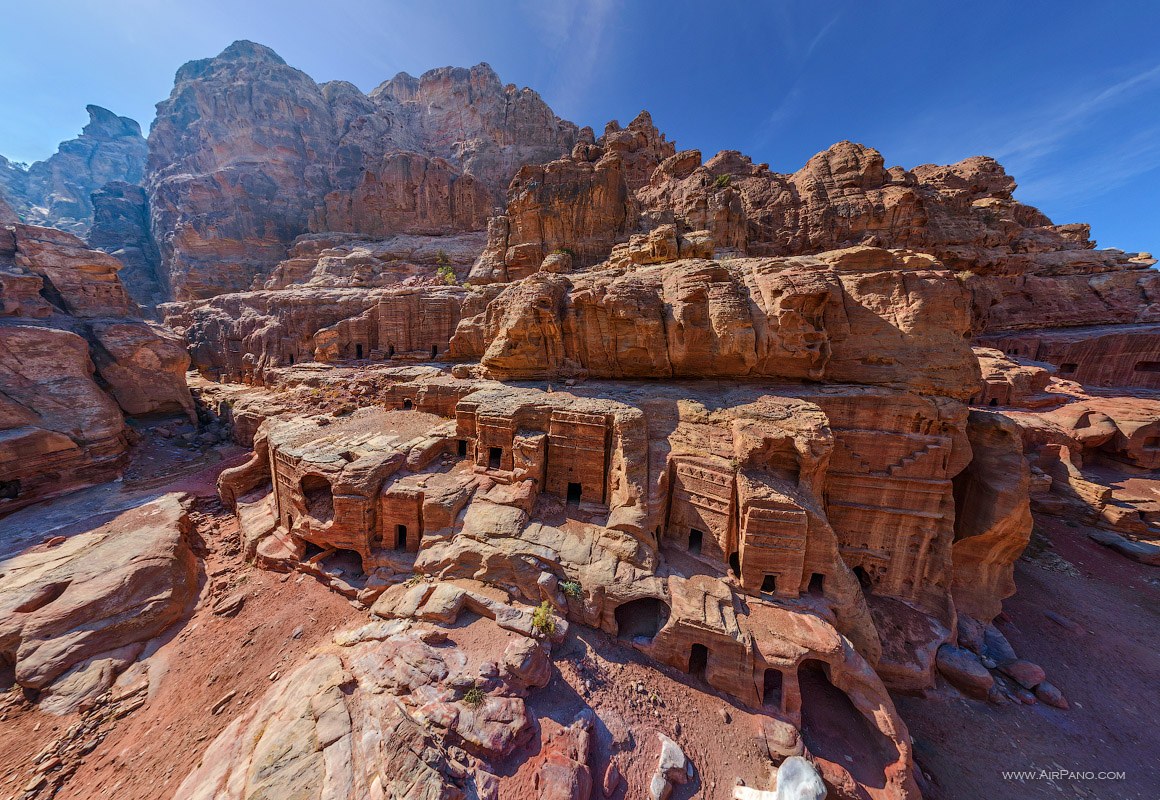
M 125 414 L 193 414 L 183 343 L 142 321 L 119 269 L 72 234 L 0 227 L 0 514 L 114 478 Z

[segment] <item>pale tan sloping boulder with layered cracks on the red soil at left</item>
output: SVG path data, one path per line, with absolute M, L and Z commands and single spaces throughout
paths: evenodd
M 0 563 L 6 681 L 59 713 L 108 689 L 196 594 L 190 531 L 171 494 Z

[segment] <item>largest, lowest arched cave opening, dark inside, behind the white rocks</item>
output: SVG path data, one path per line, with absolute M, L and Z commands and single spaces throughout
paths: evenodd
M 898 748 L 829 679 L 829 667 L 807 659 L 798 668 L 802 739 L 810 752 L 842 764 L 860 784 L 886 785 L 885 772 Z

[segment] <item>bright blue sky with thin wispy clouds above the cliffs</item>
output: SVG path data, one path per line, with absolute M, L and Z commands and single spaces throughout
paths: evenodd
M 889 165 L 998 158 L 1101 246 L 1160 252 L 1160 2 L 6 0 L 0 153 L 86 103 L 138 119 L 184 61 L 249 38 L 316 80 L 488 61 L 597 130 L 647 108 L 680 147 L 792 172 L 840 139 Z

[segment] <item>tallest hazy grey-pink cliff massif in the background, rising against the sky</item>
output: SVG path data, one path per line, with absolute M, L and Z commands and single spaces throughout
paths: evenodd
M 522 165 L 579 132 L 486 64 L 400 74 L 364 95 L 237 42 L 177 71 L 146 187 L 173 296 L 251 288 L 310 231 L 483 230 Z

